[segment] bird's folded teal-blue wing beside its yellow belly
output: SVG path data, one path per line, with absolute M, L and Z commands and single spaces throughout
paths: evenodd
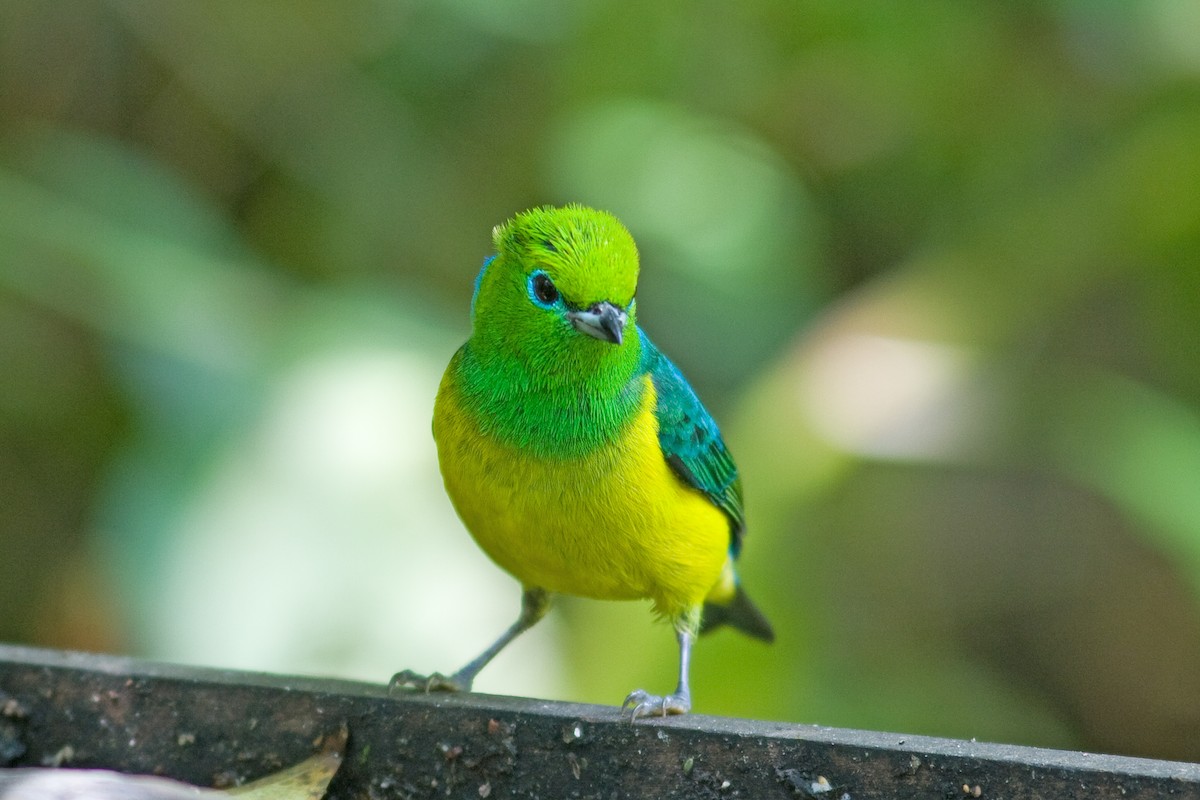
M 671 469 L 713 501 L 730 518 L 730 549 L 742 548 L 745 518 L 742 512 L 742 479 L 725 447 L 721 432 L 708 409 L 696 397 L 688 379 L 642 333 L 642 363 L 654 383 L 658 405 L 659 446 Z

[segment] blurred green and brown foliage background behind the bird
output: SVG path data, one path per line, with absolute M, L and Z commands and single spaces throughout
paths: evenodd
M 0 638 L 386 680 L 492 225 L 638 240 L 742 464 L 702 712 L 1200 759 L 1200 4 L 0 4 Z M 673 682 L 564 600 L 479 688 Z

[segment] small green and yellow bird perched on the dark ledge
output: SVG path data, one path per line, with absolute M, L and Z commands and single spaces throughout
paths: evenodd
M 679 645 L 670 694 L 629 693 L 630 720 L 691 710 L 697 636 L 774 631 L 736 565 L 742 481 L 721 433 L 637 324 L 632 235 L 578 204 L 492 231 L 472 333 L 442 378 L 433 439 L 446 494 L 479 547 L 522 587 L 517 620 L 457 672 L 402 670 L 398 691 L 470 691 L 554 595 L 648 599 Z

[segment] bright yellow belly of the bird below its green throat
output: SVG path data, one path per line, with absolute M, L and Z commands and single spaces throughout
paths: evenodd
M 433 437 L 446 493 L 492 560 L 527 588 L 649 597 L 668 616 L 722 577 L 730 523 L 680 481 L 659 449 L 655 393 L 619 445 L 580 458 L 534 458 L 481 433 L 448 373 Z

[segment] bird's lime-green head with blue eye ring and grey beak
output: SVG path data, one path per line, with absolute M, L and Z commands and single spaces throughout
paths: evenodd
M 492 234 L 473 339 L 533 371 L 636 356 L 637 248 L 611 213 L 581 205 L 518 213 Z

